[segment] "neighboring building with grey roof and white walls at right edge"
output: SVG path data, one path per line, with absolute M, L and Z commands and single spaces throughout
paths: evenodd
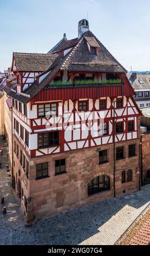
M 127 75 L 136 95 L 134 100 L 139 108 L 150 106 L 150 75 Z

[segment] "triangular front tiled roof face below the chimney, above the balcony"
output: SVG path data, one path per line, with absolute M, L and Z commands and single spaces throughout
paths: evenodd
M 92 56 L 89 52 L 88 45 L 84 36 L 96 40 L 99 48 L 97 55 Z M 95 37 L 95 35 L 87 31 L 79 40 L 78 44 L 69 52 L 67 59 L 64 61 L 62 70 L 73 71 L 98 71 L 98 72 L 126 72 L 126 69 L 112 56 L 105 46 Z

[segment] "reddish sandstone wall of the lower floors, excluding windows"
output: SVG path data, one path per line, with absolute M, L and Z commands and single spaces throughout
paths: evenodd
M 17 142 L 17 141 L 16 141 Z M 18 142 L 17 142 L 18 143 Z M 136 156 L 128 157 L 128 145 L 136 144 Z M 116 196 L 131 193 L 139 189 L 139 140 L 117 143 L 115 147 L 125 148 L 124 159 L 115 161 Z M 73 209 L 77 206 L 94 203 L 114 196 L 114 151 L 113 144 L 70 153 L 35 157 L 29 161 L 29 176 L 14 153 L 15 191 L 21 198 L 22 209 L 28 217 L 28 198 L 32 217 L 40 218 Z M 107 149 L 108 162 L 99 164 L 99 151 Z M 55 160 L 66 159 L 66 173 L 55 175 Z M 48 162 L 48 177 L 36 179 L 36 164 Z M 132 181 L 127 182 L 128 169 L 132 169 Z M 125 170 L 126 182 L 122 184 L 122 171 Z M 96 176 L 106 175 L 110 178 L 110 190 L 88 196 L 88 183 Z

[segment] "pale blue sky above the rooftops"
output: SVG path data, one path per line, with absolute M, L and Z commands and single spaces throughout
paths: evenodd
M 128 70 L 150 70 L 149 0 L 0 0 L 0 70 L 12 52 L 47 53 L 78 22 L 89 29 Z

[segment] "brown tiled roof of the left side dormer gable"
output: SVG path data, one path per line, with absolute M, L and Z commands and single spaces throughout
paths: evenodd
M 17 71 L 43 72 L 57 58 L 57 54 L 13 53 Z

